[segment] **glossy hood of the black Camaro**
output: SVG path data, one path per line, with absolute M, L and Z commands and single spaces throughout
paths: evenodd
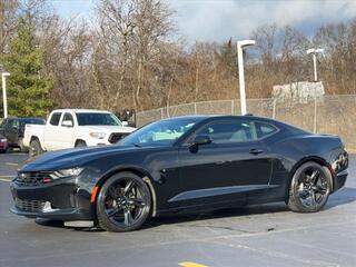
M 56 170 L 68 169 L 72 167 L 82 166 L 90 160 L 95 160 L 108 155 L 118 155 L 139 149 L 148 149 L 148 147 L 135 146 L 100 146 L 100 147 L 85 147 L 58 150 L 55 152 L 46 152 L 28 161 L 21 171 L 38 171 L 38 170 Z

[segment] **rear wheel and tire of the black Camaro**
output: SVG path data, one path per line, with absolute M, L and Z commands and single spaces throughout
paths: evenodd
M 332 174 L 317 162 L 301 165 L 293 176 L 288 207 L 296 212 L 319 211 L 332 191 Z

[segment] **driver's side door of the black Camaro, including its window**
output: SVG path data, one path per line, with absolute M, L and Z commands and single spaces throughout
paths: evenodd
M 191 149 L 197 136 L 211 144 Z M 179 149 L 181 194 L 171 201 L 181 206 L 246 201 L 267 190 L 271 160 L 258 140 L 254 121 L 228 119 L 198 129 Z

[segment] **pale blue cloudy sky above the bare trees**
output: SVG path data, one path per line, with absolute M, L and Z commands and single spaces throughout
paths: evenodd
M 356 18 L 356 0 L 164 0 L 188 42 L 248 38 L 258 26 L 290 24 L 306 34 L 323 23 Z M 89 18 L 96 0 L 51 0 L 63 17 Z

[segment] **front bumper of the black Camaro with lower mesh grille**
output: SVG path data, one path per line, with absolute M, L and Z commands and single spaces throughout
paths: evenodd
M 92 220 L 90 192 L 82 189 L 76 178 L 36 187 L 23 187 L 12 181 L 10 190 L 14 200 L 10 209 L 13 214 L 63 221 Z

